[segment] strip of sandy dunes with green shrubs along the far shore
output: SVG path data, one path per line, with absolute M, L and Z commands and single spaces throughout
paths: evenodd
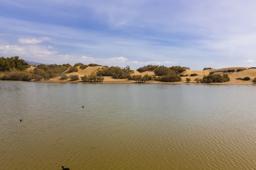
M 256 67 L 204 68 L 146 65 L 131 70 L 119 66 L 70 64 L 29 65 L 19 57 L 0 57 L 0 80 L 37 82 L 172 83 L 172 84 L 256 84 Z

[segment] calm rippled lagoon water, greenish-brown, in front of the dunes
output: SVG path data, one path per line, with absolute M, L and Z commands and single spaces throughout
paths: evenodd
M 0 81 L 0 170 L 254 170 L 255 94 Z

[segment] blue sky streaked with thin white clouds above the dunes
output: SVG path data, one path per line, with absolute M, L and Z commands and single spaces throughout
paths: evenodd
M 254 0 L 0 0 L 0 56 L 49 64 L 256 66 Z

